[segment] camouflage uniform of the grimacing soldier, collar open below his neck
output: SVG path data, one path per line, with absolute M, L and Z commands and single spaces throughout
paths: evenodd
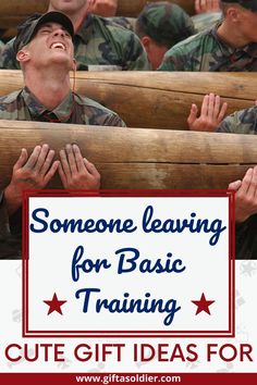
M 0 119 L 125 126 L 114 112 L 72 92 L 59 107 L 48 111 L 27 88 L 0 98 Z M 0 191 L 0 259 L 20 258 L 21 210 L 9 219 Z

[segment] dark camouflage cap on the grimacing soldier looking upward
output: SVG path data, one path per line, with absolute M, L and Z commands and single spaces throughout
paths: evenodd
M 47 23 L 61 24 L 69 32 L 71 37 L 74 37 L 73 24 L 64 13 L 48 12 L 41 16 L 35 14 L 17 27 L 17 35 L 13 44 L 14 52 L 17 53 L 24 46 L 32 41 L 39 27 Z

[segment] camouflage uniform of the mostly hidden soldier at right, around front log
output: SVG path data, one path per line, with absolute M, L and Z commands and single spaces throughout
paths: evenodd
M 257 134 L 257 107 L 234 112 L 225 117 L 219 133 Z M 235 228 L 236 259 L 257 259 L 257 214 Z

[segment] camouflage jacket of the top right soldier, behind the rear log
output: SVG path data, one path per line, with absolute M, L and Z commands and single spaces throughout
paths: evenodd
M 234 48 L 222 40 L 217 29 L 206 29 L 172 47 L 164 55 L 159 71 L 255 72 L 257 44 Z

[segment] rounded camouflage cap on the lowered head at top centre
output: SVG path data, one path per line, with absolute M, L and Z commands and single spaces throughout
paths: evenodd
M 148 3 L 136 21 L 136 34 L 147 35 L 168 48 L 195 33 L 187 13 L 178 4 L 168 1 Z

